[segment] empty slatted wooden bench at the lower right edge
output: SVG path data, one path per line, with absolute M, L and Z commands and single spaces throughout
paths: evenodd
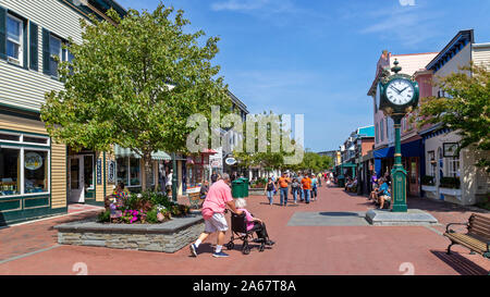
M 466 225 L 466 234 L 451 230 L 452 225 Z M 444 236 L 451 240 L 448 255 L 451 255 L 453 245 L 462 245 L 471 252 L 478 252 L 485 258 L 490 258 L 490 216 L 474 213 L 467 223 L 451 223 L 446 226 Z

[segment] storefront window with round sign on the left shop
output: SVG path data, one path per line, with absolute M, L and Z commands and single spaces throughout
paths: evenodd
M 48 191 L 48 152 L 24 150 L 25 194 Z

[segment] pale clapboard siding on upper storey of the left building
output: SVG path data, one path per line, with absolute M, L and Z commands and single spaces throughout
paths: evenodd
M 83 16 L 59 0 L 0 0 L 0 7 L 38 25 L 38 71 L 0 60 L 0 103 L 38 111 L 47 91 L 63 89 L 62 83 L 42 73 L 42 28 L 82 42 L 79 20 Z

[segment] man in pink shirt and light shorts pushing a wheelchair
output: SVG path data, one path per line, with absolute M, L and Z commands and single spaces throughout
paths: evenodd
M 218 243 L 216 245 L 215 253 L 212 255 L 216 258 L 229 257 L 228 253 L 221 251 L 224 244 L 224 235 L 228 231 L 226 219 L 224 218 L 224 210 L 226 206 L 230 209 L 241 214 L 241 211 L 237 211 L 235 208 L 235 202 L 233 201 L 233 197 L 230 188 L 230 175 L 223 174 L 222 178 L 211 185 L 209 188 L 208 195 L 206 196 L 206 200 L 203 203 L 203 218 L 205 219 L 205 232 L 200 234 L 199 238 L 196 243 L 189 246 L 191 253 L 194 257 L 197 257 L 197 248 L 199 245 L 206 240 L 206 238 L 215 232 L 218 232 Z

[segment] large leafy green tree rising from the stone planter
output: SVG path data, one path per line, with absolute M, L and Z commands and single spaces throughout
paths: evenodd
M 183 14 L 160 3 L 124 18 L 110 10 L 115 25 L 81 21 L 83 42 L 70 40 L 74 60 L 60 63 L 65 89 L 47 94 L 41 109 L 49 134 L 74 149 L 132 149 L 144 160 L 148 188 L 152 152 L 186 151 L 189 115 L 230 110 L 220 67 L 211 64 L 219 38 L 199 46 L 204 32 L 184 33 Z

